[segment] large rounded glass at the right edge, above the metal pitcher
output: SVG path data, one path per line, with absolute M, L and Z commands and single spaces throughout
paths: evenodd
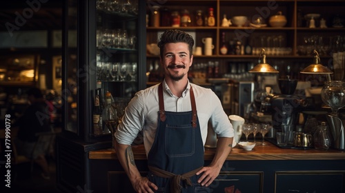
M 345 106 L 345 81 L 326 81 L 321 90 L 321 98 L 337 116 L 340 108 Z

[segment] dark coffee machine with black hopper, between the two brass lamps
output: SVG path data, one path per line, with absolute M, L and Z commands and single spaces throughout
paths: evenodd
M 281 94 L 268 94 L 262 101 L 262 109 L 272 116 L 273 129 L 282 132 L 282 125 L 297 125 L 299 112 L 307 106 L 304 96 L 295 93 L 296 79 L 278 79 Z M 275 136 L 275 134 L 273 134 Z

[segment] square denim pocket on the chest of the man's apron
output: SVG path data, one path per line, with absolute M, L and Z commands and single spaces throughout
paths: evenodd
M 195 129 L 188 125 L 166 125 L 166 154 L 170 157 L 190 156 L 195 152 Z

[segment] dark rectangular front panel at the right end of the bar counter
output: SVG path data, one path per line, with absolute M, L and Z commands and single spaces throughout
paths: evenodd
M 275 172 L 275 192 L 344 192 L 345 171 Z

